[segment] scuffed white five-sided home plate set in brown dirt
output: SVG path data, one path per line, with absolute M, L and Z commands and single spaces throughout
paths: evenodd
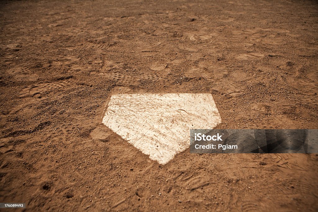
M 221 117 L 211 94 L 118 94 L 102 121 L 149 158 L 168 163 L 190 147 L 190 129 L 213 129 Z

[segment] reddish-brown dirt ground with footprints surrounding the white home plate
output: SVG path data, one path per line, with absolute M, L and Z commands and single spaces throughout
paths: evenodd
M 318 210 L 317 154 L 159 165 L 101 123 L 112 94 L 211 93 L 220 129 L 318 128 L 315 1 L 1 1 L 0 28 L 0 202 Z

